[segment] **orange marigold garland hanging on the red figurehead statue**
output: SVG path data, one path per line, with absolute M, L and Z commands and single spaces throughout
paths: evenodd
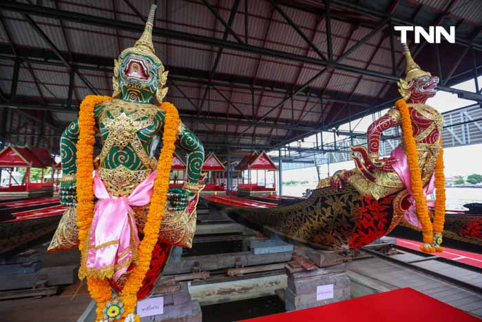
M 434 221 L 430 221 L 426 197 L 423 194 L 423 182 L 419 168 L 419 158 L 417 144 L 413 137 L 412 120 L 410 110 L 404 99 L 395 102 L 395 107 L 401 115 L 402 139 L 406 148 L 408 168 L 410 170 L 410 183 L 412 194 L 415 199 L 417 217 L 422 225 L 423 245 L 420 249 L 423 252 L 441 252 L 443 223 L 445 221 L 445 179 L 443 177 L 443 150 L 440 148 L 439 156 L 435 165 L 435 188 L 437 188 L 437 198 L 435 200 Z M 441 138 L 440 138 L 441 142 Z M 441 145 L 440 145 L 441 146 Z

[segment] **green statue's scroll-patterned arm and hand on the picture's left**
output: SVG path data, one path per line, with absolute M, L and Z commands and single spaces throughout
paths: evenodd
M 59 196 L 62 205 L 76 205 L 76 153 L 78 139 L 78 120 L 75 119 L 61 135 L 60 150 L 62 162 L 62 182 Z

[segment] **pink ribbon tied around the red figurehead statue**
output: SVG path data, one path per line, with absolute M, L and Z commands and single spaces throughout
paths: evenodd
M 399 145 L 397 146 L 397 148 L 395 148 L 395 150 L 392 151 L 392 153 L 390 154 L 390 157 L 398 159 L 396 163 L 393 163 L 392 167 L 393 167 L 393 170 L 397 172 L 401 182 L 404 183 L 408 191 L 408 202 L 410 202 L 410 207 L 408 208 L 408 211 L 404 214 L 404 218 L 408 223 L 410 223 L 410 225 L 414 225 L 415 227 L 421 228 L 421 223 L 417 218 L 417 214 L 415 214 L 415 210 L 416 210 L 415 199 L 413 198 L 412 183 L 410 183 L 410 170 L 408 168 L 407 156 L 404 150 Z M 434 174 L 432 174 L 430 181 L 423 188 L 423 197 L 425 199 L 427 199 L 428 194 L 431 194 L 434 191 L 434 188 L 435 188 L 434 181 L 435 181 L 435 176 Z M 433 207 L 434 203 L 430 202 L 430 203 L 427 203 L 427 205 Z

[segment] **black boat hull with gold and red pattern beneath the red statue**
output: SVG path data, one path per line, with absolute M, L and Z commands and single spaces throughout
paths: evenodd
M 397 194 L 376 201 L 355 189 L 313 191 L 293 205 L 250 208 L 207 200 L 238 223 L 290 243 L 324 250 L 360 248 L 390 232 L 401 221 L 392 203 Z

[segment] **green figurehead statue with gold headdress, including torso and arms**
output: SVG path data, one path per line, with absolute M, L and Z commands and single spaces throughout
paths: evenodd
M 155 168 L 158 139 L 162 136 L 165 113 L 161 103 L 167 94 L 167 71 L 154 54 L 152 26 L 155 6 L 151 9 L 145 30 L 133 47 L 114 59 L 114 94 L 112 101 L 96 106 L 96 128 L 103 143 L 96 158 L 99 177 L 109 193 L 127 196 Z M 65 129 L 61 137 L 63 182 L 60 196 L 63 205 L 76 204 L 76 141 L 78 120 Z M 187 152 L 187 178 L 182 189 L 171 188 L 171 210 L 182 210 L 189 197 L 198 192 L 204 149 L 199 139 L 181 123 L 178 145 Z

